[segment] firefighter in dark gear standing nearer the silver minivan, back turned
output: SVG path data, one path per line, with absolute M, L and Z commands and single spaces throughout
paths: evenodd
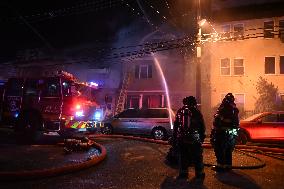
M 197 109 L 195 97 L 183 99 L 183 107 L 176 114 L 173 143 L 179 153 L 178 179 L 188 178 L 188 167 L 194 164 L 195 177 L 204 180 L 203 148 L 205 124 L 201 112 Z

